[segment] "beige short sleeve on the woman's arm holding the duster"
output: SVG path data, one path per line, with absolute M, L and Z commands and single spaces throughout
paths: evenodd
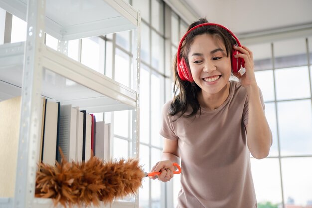
M 176 140 L 178 137 L 175 134 L 174 122 L 172 122 L 172 116 L 169 115 L 169 106 L 172 101 L 168 101 L 163 105 L 161 125 L 160 125 L 160 135 L 166 139 Z

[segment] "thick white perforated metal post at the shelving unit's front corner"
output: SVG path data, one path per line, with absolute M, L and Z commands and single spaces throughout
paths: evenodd
M 44 46 L 45 0 L 28 0 L 22 108 L 20 120 L 14 208 L 32 208 L 35 195 L 38 142 L 41 137 L 39 112 Z

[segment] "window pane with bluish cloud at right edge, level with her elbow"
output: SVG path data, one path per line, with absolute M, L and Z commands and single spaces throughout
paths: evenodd
M 285 101 L 277 104 L 281 155 L 311 155 L 311 100 Z

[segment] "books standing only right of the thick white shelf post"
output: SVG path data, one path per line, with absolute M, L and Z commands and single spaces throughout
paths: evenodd
M 91 154 L 104 160 L 110 155 L 110 124 L 96 122 L 93 114 L 88 114 L 70 104 L 42 98 L 42 139 L 39 159 L 46 164 L 61 161 L 60 147 L 68 161 L 87 161 Z

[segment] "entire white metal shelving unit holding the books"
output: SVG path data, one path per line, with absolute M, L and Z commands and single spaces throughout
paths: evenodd
M 0 198 L 0 208 L 53 207 L 52 200 L 34 197 L 40 95 L 87 112 L 133 110 L 137 157 L 141 17 L 123 0 L 0 0 L 0 7 L 27 21 L 26 42 L 0 45 L 0 100 L 22 95 L 15 195 Z M 134 30 L 133 88 L 64 55 L 68 40 L 127 30 Z M 64 43 L 63 51 L 44 45 L 45 32 Z M 138 208 L 138 196 L 103 207 Z

